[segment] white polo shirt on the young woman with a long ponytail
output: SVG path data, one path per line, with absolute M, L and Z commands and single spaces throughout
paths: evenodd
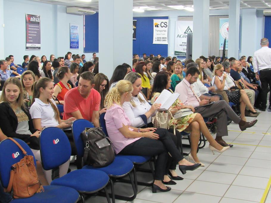
M 54 99 L 50 99 L 56 106 Z M 51 104 L 45 104 L 40 99 L 35 98 L 35 102 L 30 107 L 30 114 L 32 119 L 41 118 L 41 127 L 55 127 L 59 123 L 55 119 L 54 109 Z

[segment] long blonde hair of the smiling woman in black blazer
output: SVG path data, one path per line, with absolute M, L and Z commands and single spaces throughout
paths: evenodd
M 10 101 L 8 101 L 7 96 L 6 96 L 6 91 L 5 91 L 7 85 L 9 85 L 9 84 L 13 84 L 13 85 L 18 86 L 18 88 L 20 90 L 20 94 L 19 94 L 18 98 L 16 99 L 17 106 L 20 107 L 20 108 L 24 108 L 26 110 L 26 107 L 25 107 L 25 104 L 24 104 L 23 88 L 22 88 L 20 80 L 18 78 L 16 78 L 16 77 L 10 77 L 4 83 L 2 95 L 1 95 L 1 98 L 0 98 L 0 103 L 1 102 L 7 102 L 10 105 Z

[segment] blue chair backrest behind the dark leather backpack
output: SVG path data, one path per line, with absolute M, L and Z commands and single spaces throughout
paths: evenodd
M 84 155 L 84 143 L 81 138 L 81 132 L 85 130 L 85 128 L 94 128 L 94 125 L 85 119 L 77 119 L 73 122 L 71 130 L 73 134 L 74 144 L 76 148 L 76 154 L 79 157 L 83 157 Z

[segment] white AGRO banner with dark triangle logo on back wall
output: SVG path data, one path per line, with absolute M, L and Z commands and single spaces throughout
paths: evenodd
M 193 21 L 176 21 L 174 55 L 186 56 L 187 34 L 193 33 Z

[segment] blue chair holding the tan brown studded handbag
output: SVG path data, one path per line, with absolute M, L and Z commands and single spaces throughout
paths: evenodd
M 14 138 L 27 152 L 28 155 L 34 157 L 29 146 L 20 139 Z M 19 152 L 18 157 L 13 158 L 12 154 Z M 6 139 L 0 143 L 0 177 L 4 188 L 7 188 L 10 180 L 11 166 L 19 162 L 24 157 L 21 149 L 11 140 Z M 36 165 L 35 157 L 34 162 Z M 79 193 L 73 188 L 65 186 L 43 186 L 44 192 L 35 193 L 33 196 L 22 199 L 13 199 L 12 203 L 48 203 L 48 202 L 77 202 Z M 1 198 L 1 197 L 0 197 Z

